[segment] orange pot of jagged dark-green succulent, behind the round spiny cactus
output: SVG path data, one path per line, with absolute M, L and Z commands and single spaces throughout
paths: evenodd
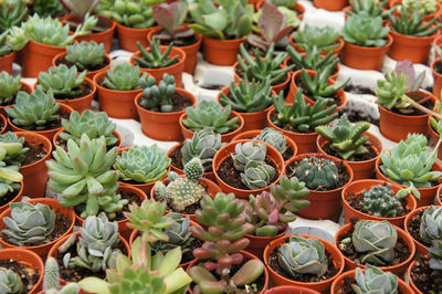
M 366 132 L 364 133 L 368 137 L 368 141 L 371 143 L 371 147 L 376 153 L 376 157 L 362 160 L 362 161 L 350 161 L 345 160 L 352 169 L 354 178 L 352 180 L 361 180 L 361 179 L 371 179 L 375 172 L 375 162 L 376 159 L 380 156 L 382 151 L 382 141 L 372 133 Z M 316 139 L 316 147 L 320 154 L 327 154 L 324 151 L 323 147 L 329 143 L 323 136 L 318 136 Z

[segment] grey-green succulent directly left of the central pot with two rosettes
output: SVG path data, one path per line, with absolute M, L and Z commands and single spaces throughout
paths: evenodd
M 186 139 L 182 145 L 182 165 L 186 166 L 193 157 L 198 157 L 204 172 L 212 171 L 213 156 L 223 145 L 221 135 L 213 133 L 211 128 L 198 130 L 191 139 Z

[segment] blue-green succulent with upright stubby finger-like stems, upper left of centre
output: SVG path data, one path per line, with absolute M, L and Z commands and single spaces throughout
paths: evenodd
M 139 106 L 146 109 L 158 108 L 161 113 L 172 112 L 172 96 L 176 93 L 176 86 L 173 75 L 165 73 L 158 85 L 156 85 L 155 77 L 149 76 L 143 91 L 144 97 L 139 101 Z

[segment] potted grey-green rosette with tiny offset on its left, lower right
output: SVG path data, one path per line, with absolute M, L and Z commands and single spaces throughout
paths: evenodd
M 415 252 L 411 237 L 386 220 L 344 224 L 335 235 L 335 245 L 348 270 L 371 264 L 396 275 L 406 272 Z

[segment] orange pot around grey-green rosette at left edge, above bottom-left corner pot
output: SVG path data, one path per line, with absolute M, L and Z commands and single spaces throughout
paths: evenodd
M 51 250 L 51 248 L 62 238 L 64 238 L 65 235 L 70 234 L 72 232 L 72 230 L 74 229 L 74 224 L 75 224 L 75 216 L 74 216 L 74 211 L 72 210 L 72 208 L 66 208 L 66 207 L 62 207 L 59 203 L 59 200 L 52 199 L 52 198 L 35 198 L 35 199 L 31 199 L 31 200 L 27 200 L 25 202 L 32 203 L 32 204 L 36 204 L 36 203 L 41 203 L 41 204 L 45 204 L 51 207 L 52 210 L 54 210 L 56 212 L 56 214 L 63 214 L 64 217 L 67 217 L 70 219 L 70 227 L 69 229 L 56 240 L 49 242 L 46 244 L 42 244 L 42 245 L 36 245 L 36 246 L 18 246 L 14 244 L 9 243 L 7 240 L 0 239 L 0 244 L 2 248 L 22 248 L 29 251 L 32 251 L 34 253 L 36 253 L 38 255 L 40 255 L 42 259 L 46 258 L 48 252 Z M 3 230 L 4 229 L 4 222 L 3 222 L 3 218 L 4 217 L 11 217 L 11 209 L 7 209 L 4 210 L 1 214 L 0 214 L 0 229 Z

